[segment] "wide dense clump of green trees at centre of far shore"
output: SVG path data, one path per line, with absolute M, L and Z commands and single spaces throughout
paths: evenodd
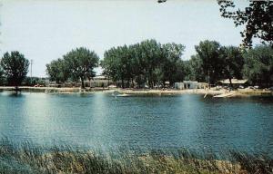
M 106 51 L 101 66 L 114 81 L 137 82 L 149 87 L 184 79 L 184 64 L 180 59 L 185 46 L 176 43 L 161 44 L 146 40 L 129 46 L 114 47 Z

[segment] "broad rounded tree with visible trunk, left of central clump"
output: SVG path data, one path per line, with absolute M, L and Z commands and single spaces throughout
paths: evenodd
M 95 52 L 80 47 L 66 53 L 64 60 L 71 76 L 80 79 L 81 87 L 85 88 L 85 79 L 95 76 L 94 68 L 98 66 L 99 57 Z

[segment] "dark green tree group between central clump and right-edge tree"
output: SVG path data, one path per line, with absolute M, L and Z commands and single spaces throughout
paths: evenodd
M 222 79 L 242 79 L 244 58 L 235 46 L 221 46 L 215 41 L 200 42 L 197 54 L 186 61 L 187 80 L 216 83 Z

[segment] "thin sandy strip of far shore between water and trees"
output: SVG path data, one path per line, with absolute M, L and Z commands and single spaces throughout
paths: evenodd
M 184 93 L 192 94 L 203 94 L 207 95 L 220 95 L 227 94 L 227 97 L 248 97 L 248 96 L 261 96 L 273 95 L 273 91 L 267 91 L 262 89 L 238 89 L 235 91 L 228 92 L 227 90 L 216 90 L 215 88 L 211 89 L 187 89 L 187 90 L 176 90 L 176 89 L 121 89 L 121 88 L 55 88 L 55 87 L 29 87 L 29 86 L 20 86 L 19 90 L 21 92 L 46 92 L 46 93 L 77 93 L 77 92 L 106 92 L 113 93 L 118 92 L 120 94 L 128 95 L 146 95 L 146 94 L 155 94 L 155 95 L 176 95 Z M 15 87 L 11 86 L 0 86 L 0 92 L 14 92 Z

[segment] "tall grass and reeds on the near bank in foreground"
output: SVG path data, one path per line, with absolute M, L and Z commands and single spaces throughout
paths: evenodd
M 228 151 L 221 160 L 190 150 L 83 150 L 70 146 L 46 148 L 30 142 L 0 142 L 0 173 L 272 173 L 266 155 Z

